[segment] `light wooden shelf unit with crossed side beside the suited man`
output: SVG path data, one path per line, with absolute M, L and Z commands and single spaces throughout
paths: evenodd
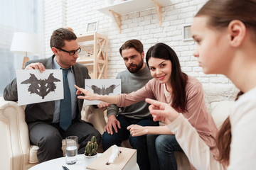
M 90 45 L 84 45 L 85 43 Z M 86 33 L 78 36 L 78 44 L 82 52 L 77 62 L 88 67 L 92 79 L 107 79 L 107 36 L 99 33 Z M 91 49 L 87 50 L 88 47 Z M 91 54 L 88 55 L 88 53 Z

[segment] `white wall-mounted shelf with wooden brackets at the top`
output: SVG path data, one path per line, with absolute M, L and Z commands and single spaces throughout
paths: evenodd
M 107 16 L 113 16 L 121 33 L 121 16 L 138 11 L 144 11 L 149 8 L 156 8 L 159 17 L 159 26 L 161 26 L 161 8 L 171 4 L 170 0 L 127 0 L 110 6 L 97 9 Z

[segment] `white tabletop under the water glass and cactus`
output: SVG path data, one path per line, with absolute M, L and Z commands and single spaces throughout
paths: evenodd
M 100 153 L 97 154 L 97 157 L 100 157 Z M 43 162 L 41 164 L 37 164 L 29 170 L 63 170 L 62 166 L 66 166 L 69 170 L 83 170 L 86 169 L 87 164 L 84 161 L 85 157 L 83 154 L 78 154 L 78 162 L 76 162 L 73 165 L 65 164 L 65 157 L 60 157 L 57 159 L 52 159 L 47 162 Z M 131 170 L 139 170 L 139 166 L 137 166 L 134 169 Z

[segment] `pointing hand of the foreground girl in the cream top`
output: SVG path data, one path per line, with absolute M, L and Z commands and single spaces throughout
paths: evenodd
M 167 103 L 162 103 L 160 101 L 155 101 L 150 98 L 146 98 L 146 102 L 150 103 L 151 105 L 149 106 L 149 111 L 151 115 L 153 116 L 153 120 L 161 120 L 168 125 L 172 121 L 174 121 L 176 118 L 178 118 L 178 113 L 175 111 L 174 108 L 169 106 Z

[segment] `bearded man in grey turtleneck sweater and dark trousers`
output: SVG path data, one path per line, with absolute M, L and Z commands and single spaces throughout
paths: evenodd
M 119 72 L 117 79 L 121 79 L 122 94 L 137 91 L 145 86 L 152 79 L 149 68 L 144 62 L 144 50 L 142 42 L 139 40 L 127 40 L 119 49 L 127 70 Z M 149 104 L 145 101 L 135 103 L 131 106 L 119 108 L 112 105 L 107 108 L 108 122 L 105 132 L 102 135 L 103 149 L 107 150 L 112 145 L 120 146 L 123 140 L 129 139 L 132 148 L 137 149 L 137 163 L 139 169 L 150 169 L 148 152 L 146 147 L 146 135 L 132 137 L 127 127 L 132 124 L 142 126 L 157 126 L 149 113 Z

